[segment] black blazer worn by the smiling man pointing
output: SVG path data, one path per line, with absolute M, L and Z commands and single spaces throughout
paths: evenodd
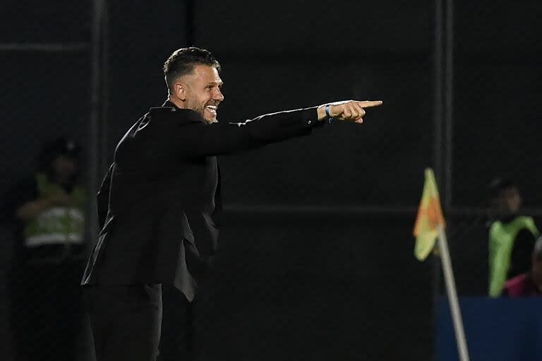
M 216 155 L 310 134 L 316 108 L 244 123 L 207 124 L 171 102 L 151 108 L 116 146 L 97 194 L 101 231 L 82 285 L 173 283 L 188 300 L 194 276 L 217 251 Z

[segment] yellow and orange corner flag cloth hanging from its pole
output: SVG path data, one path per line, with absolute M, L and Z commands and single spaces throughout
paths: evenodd
M 444 224 L 435 174 L 431 168 L 427 168 L 426 182 L 423 184 L 423 194 L 414 225 L 414 255 L 419 261 L 426 259 L 433 250 L 438 237 L 438 226 L 444 227 Z

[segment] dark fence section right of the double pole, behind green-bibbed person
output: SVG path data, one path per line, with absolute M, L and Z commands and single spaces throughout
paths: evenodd
M 502 1 L 454 7 L 454 117 L 450 225 L 452 256 L 463 295 L 488 292 L 488 186 L 512 179 L 521 213 L 542 214 L 538 125 L 542 76 L 535 1 L 507 8 Z M 512 20 L 514 19 L 514 20 Z

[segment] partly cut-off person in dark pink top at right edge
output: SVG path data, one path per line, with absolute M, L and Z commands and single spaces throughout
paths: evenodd
M 507 280 L 502 295 L 512 298 L 542 296 L 542 237 L 534 244 L 531 270 Z

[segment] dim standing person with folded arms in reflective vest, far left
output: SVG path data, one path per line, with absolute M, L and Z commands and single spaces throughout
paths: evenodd
M 76 360 L 86 254 L 79 158 L 74 141 L 45 143 L 39 170 L 6 196 L 16 241 L 8 274 L 15 360 Z

